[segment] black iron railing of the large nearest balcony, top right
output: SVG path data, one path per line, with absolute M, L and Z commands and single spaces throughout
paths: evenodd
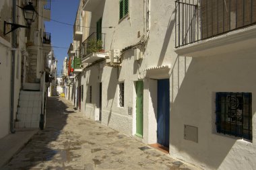
M 256 0 L 175 1 L 175 46 L 256 24 Z

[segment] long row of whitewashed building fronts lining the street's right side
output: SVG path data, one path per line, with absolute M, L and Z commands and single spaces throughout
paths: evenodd
M 86 0 L 79 10 L 82 114 L 203 169 L 254 169 L 256 1 Z

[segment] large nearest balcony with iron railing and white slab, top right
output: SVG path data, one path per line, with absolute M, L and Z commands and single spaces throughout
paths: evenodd
M 177 0 L 175 47 L 181 56 L 209 56 L 253 48 L 256 1 Z

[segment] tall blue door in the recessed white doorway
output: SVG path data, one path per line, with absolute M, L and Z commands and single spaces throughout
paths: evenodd
M 169 147 L 170 128 L 170 83 L 169 79 L 158 80 L 158 144 Z

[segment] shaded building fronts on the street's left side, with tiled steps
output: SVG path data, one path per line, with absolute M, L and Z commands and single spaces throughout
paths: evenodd
M 24 8 L 30 3 L 35 10 L 34 21 L 24 18 Z M 15 128 L 39 128 L 40 114 L 45 109 L 42 105 L 46 60 L 51 52 L 51 34 L 45 32 L 44 21 L 50 21 L 51 1 L 3 0 L 0 13 L 0 138 L 3 138 L 14 133 Z M 18 29 L 11 31 L 12 26 Z

